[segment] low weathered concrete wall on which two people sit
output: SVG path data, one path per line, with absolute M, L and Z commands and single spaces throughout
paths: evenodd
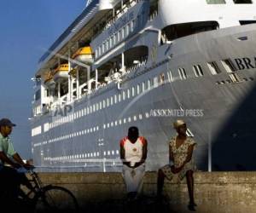
M 141 199 L 135 209 L 125 201 L 125 183 L 120 173 L 39 173 L 45 184 L 69 189 L 82 212 L 190 212 L 185 180 L 166 181 L 166 200 L 155 200 L 156 172 L 143 179 Z M 256 212 L 256 172 L 196 172 L 196 212 Z M 129 209 L 129 210 L 128 210 Z

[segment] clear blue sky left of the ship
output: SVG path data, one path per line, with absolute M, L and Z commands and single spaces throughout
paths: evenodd
M 86 0 L 1 0 L 0 118 L 17 124 L 10 137 L 22 158 L 32 158 L 28 118 L 38 60 L 85 4 Z

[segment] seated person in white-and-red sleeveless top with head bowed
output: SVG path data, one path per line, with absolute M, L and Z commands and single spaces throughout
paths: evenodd
M 128 200 L 136 199 L 143 185 L 147 153 L 147 140 L 139 136 L 137 127 L 130 127 L 128 136 L 120 141 L 120 158 L 123 161 L 123 176 Z

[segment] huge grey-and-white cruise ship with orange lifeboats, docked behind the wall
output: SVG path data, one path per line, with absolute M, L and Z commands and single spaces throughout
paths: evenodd
M 197 142 L 198 170 L 255 170 L 256 1 L 91 0 L 33 78 L 40 171 L 120 171 L 130 126 L 147 170 L 168 163 L 172 123 Z

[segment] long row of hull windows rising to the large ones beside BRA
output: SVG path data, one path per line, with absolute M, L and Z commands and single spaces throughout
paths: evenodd
M 233 62 L 230 59 L 221 60 L 221 62 L 227 72 L 236 71 L 236 67 L 234 66 Z M 208 62 L 207 66 L 209 67 L 209 70 L 212 73 L 212 75 L 216 75 L 221 72 L 221 69 L 218 67 L 218 64 L 216 61 Z M 201 65 L 199 64 L 194 65 L 193 70 L 195 72 L 195 77 L 197 78 L 204 75 Z M 187 72 L 185 68 L 180 67 L 177 69 L 177 72 L 181 80 L 184 80 L 187 78 Z M 173 82 L 174 79 L 172 77 L 172 71 L 166 72 L 166 74 L 167 74 L 168 81 Z M 49 129 L 55 128 L 56 126 L 59 126 L 61 124 L 68 123 L 70 121 L 73 121 L 74 119 L 84 117 L 86 115 L 89 115 L 90 113 L 102 110 L 106 107 L 113 106 L 113 104 L 117 104 L 120 101 L 125 101 L 126 99 L 134 97 L 135 95 L 140 95 L 146 90 L 150 90 L 158 87 L 160 84 L 165 83 L 165 81 L 166 81 L 166 75 L 163 72 L 159 76 L 150 78 L 143 83 L 138 83 L 137 86 L 133 86 L 129 89 L 123 90 L 121 93 L 119 93 L 119 95 L 113 95 L 107 98 L 106 100 L 102 100 L 96 104 L 93 104 L 90 107 L 85 107 L 84 109 L 81 109 L 78 112 L 74 112 L 73 114 L 70 114 L 65 118 L 60 118 L 56 120 L 54 123 L 49 124 Z

